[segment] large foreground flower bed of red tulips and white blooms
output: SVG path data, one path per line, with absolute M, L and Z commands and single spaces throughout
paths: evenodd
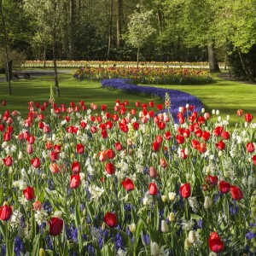
M 231 132 L 191 105 L 174 124 L 165 105 L 3 111 L 2 254 L 254 255 L 253 116 Z

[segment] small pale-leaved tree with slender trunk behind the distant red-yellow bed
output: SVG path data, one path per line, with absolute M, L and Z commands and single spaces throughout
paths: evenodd
M 128 24 L 127 42 L 137 49 L 137 67 L 139 63 L 139 51 L 156 31 L 152 25 L 153 10 L 144 11 L 141 8 L 131 15 Z

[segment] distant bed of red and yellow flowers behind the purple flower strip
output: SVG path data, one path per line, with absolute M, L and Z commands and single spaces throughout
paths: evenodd
M 82 67 L 73 73 L 74 79 L 130 79 L 134 84 L 207 84 L 210 73 L 203 70 L 166 67 Z

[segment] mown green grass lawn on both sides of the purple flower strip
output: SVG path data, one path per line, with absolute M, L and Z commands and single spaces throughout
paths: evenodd
M 218 109 L 220 115 L 224 119 L 227 114 L 230 115 L 230 121 L 234 125 L 241 118 L 236 116 L 236 110 L 241 108 L 244 113 L 252 113 L 256 119 L 256 84 L 244 84 L 241 82 L 228 81 L 218 79 L 214 75 L 216 82 L 214 84 L 203 85 L 154 85 L 167 89 L 183 90 L 197 96 L 203 102 L 208 112 L 212 109 Z M 160 99 L 127 94 L 119 90 L 102 89 L 101 84 L 91 81 L 74 80 L 71 74 L 59 74 L 59 83 L 61 97 L 56 98 L 58 104 L 69 102 L 79 102 L 84 100 L 86 106 L 89 107 L 93 102 L 99 106 L 107 104 L 113 108 L 116 99 L 120 101 L 129 100 L 130 108 L 134 107 L 136 101 L 149 102 L 154 101 L 155 104 L 163 103 Z M 8 84 L 0 83 L 0 100 L 7 101 L 9 110 L 19 110 L 26 113 L 27 102 L 40 102 L 49 100 L 49 87 L 54 84 L 53 76 L 42 76 L 31 80 L 20 79 L 12 82 L 12 95 L 8 94 Z

